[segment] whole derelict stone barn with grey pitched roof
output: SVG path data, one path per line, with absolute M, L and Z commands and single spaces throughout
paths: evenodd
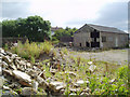
M 129 34 L 114 27 L 86 24 L 74 33 L 74 46 L 126 47 Z

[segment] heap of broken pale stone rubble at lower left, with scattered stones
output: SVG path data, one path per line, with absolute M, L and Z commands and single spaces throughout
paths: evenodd
M 64 56 L 63 56 L 64 57 Z M 28 60 L 25 60 L 18 57 L 16 54 L 4 51 L 0 47 L 0 74 L 3 79 L 3 92 L 5 94 L 15 94 L 15 95 L 37 95 L 39 89 L 42 89 L 48 95 L 62 95 L 66 89 L 66 83 L 56 81 L 54 78 L 55 73 L 61 69 L 61 57 L 52 57 L 50 63 L 50 73 L 51 78 L 46 77 L 46 70 L 41 69 L 41 66 L 38 64 L 30 64 Z M 56 67 L 60 64 L 60 67 Z M 65 61 L 62 61 L 65 68 Z M 64 72 L 63 74 L 68 73 L 69 77 L 76 78 L 75 72 Z M 77 93 L 80 89 L 80 85 L 87 83 L 88 81 L 79 80 L 74 86 L 77 86 L 78 89 L 70 88 L 70 94 L 74 92 Z M 83 89 L 82 94 L 88 94 L 89 88 Z

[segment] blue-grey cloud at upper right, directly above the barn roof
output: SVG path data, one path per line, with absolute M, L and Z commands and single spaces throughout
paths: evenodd
M 117 27 L 127 30 L 128 26 L 128 3 L 114 2 L 108 3 L 99 12 L 100 16 L 93 23 Z

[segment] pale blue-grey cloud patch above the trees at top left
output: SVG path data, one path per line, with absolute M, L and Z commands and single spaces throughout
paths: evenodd
M 2 18 L 14 19 L 28 15 L 28 2 L 2 2 Z

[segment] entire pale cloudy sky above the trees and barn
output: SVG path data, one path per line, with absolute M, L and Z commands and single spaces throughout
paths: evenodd
M 39 15 L 52 27 L 94 24 L 128 30 L 129 0 L 1 0 L 0 20 Z

